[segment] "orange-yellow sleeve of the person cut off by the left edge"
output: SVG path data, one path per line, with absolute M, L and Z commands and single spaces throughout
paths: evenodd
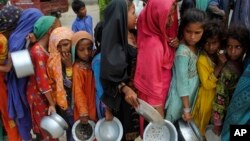
M 8 55 L 7 39 L 3 34 L 0 34 L 0 64 L 4 64 Z

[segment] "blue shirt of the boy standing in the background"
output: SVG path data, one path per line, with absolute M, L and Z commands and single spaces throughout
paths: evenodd
M 77 17 L 72 24 L 72 31 L 86 31 L 93 36 L 93 21 L 92 17 L 87 15 L 84 18 Z

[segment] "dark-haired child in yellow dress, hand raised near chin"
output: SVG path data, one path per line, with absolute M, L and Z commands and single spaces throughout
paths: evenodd
M 226 62 L 226 57 L 218 53 L 223 41 L 223 30 L 218 22 L 208 23 L 203 37 L 203 51 L 197 61 L 201 83 L 192 115 L 204 137 L 212 114 L 217 78 Z

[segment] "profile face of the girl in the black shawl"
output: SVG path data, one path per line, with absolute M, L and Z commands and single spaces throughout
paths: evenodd
M 135 15 L 135 5 L 132 4 L 128 9 L 128 29 L 134 29 L 136 26 L 137 17 Z

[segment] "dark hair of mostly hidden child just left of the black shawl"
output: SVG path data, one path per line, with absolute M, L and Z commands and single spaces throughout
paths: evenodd
M 101 52 L 103 23 L 104 23 L 103 21 L 100 21 L 99 23 L 96 24 L 94 29 L 95 46 L 96 46 L 95 55 Z

